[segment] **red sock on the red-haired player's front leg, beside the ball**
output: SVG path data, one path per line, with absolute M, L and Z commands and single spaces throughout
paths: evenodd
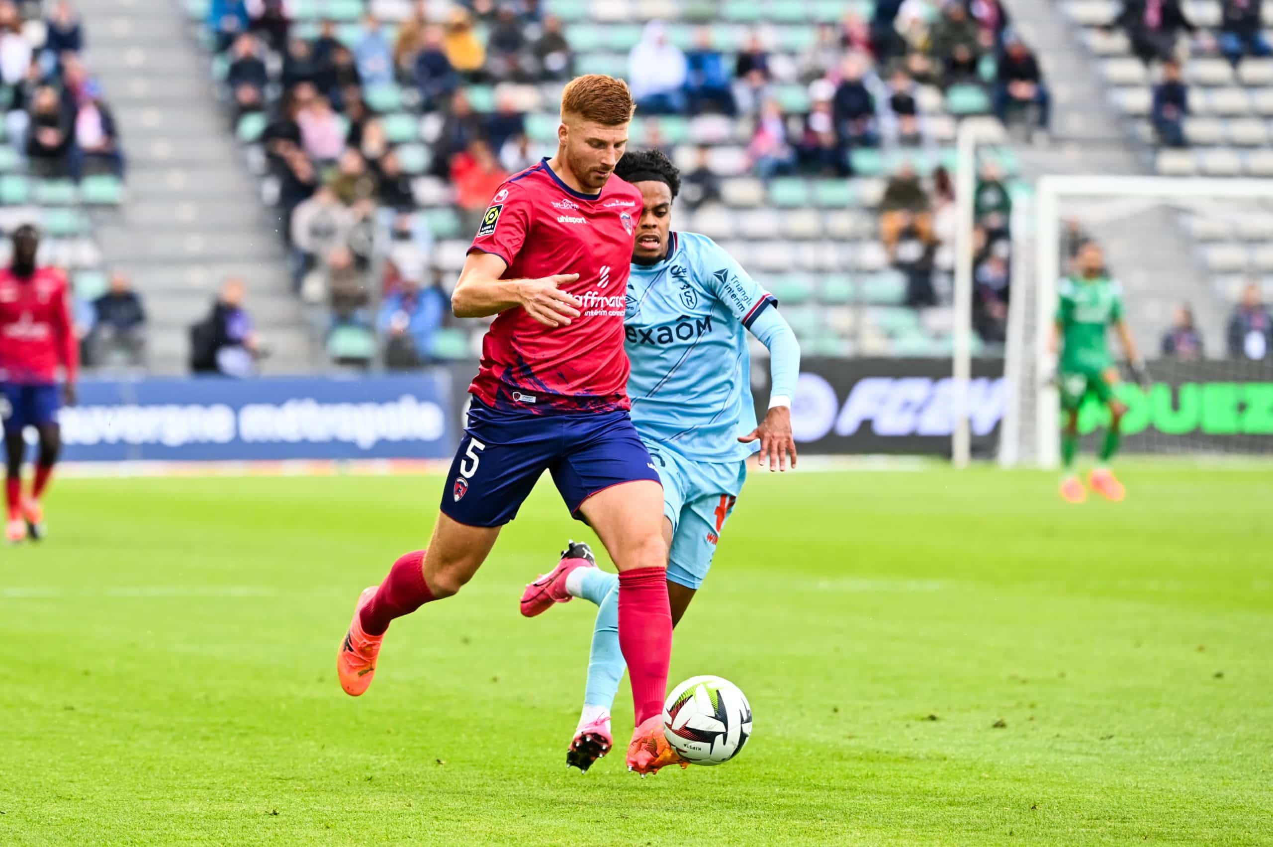
M 663 711 L 672 659 L 672 609 L 667 570 L 638 567 L 619 575 L 619 649 L 628 663 L 639 726 Z

